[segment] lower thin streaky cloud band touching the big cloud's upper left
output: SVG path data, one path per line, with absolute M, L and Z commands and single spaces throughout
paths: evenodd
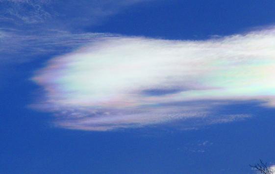
M 45 55 L 65 54 L 96 38 L 111 36 L 114 35 L 63 30 L 41 31 L 37 35 L 29 31 L 0 28 L 0 65 L 33 61 Z

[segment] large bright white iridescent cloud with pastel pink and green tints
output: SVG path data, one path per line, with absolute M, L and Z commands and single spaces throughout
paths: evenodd
M 45 96 L 32 107 L 68 129 L 142 127 L 207 118 L 228 101 L 274 107 L 274 74 L 275 28 L 205 41 L 99 37 L 35 73 Z

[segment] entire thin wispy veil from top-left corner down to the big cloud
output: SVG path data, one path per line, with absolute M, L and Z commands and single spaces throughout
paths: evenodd
M 110 34 L 82 32 L 147 0 L 0 0 L 0 64 L 64 54 Z M 150 0 L 151 1 L 151 0 Z M 18 56 L 20 54 L 20 56 Z

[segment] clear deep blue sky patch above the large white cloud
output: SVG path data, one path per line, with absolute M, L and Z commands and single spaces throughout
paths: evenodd
M 159 0 L 110 16 L 86 31 L 167 39 L 206 39 L 274 24 L 273 0 Z

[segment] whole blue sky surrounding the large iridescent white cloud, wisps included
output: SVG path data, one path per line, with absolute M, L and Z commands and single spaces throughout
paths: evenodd
M 248 174 L 258 159 L 275 163 L 275 109 L 259 101 L 230 101 L 212 115 L 251 115 L 238 121 L 102 132 L 54 127 L 54 114 L 29 107 L 42 95 L 29 79 L 89 42 L 77 34 L 205 40 L 272 26 L 274 0 L 87 1 L 0 0 L 0 34 L 9 35 L 0 37 L 0 174 Z

